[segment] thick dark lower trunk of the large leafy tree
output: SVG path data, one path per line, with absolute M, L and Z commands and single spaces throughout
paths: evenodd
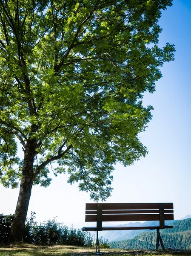
M 31 145 L 30 145 L 31 144 Z M 17 207 L 14 213 L 11 232 L 9 235 L 9 243 L 14 241 L 23 241 L 26 215 L 31 197 L 31 189 L 33 185 L 33 163 L 34 163 L 34 145 L 28 144 L 24 156 L 23 173 L 20 183 L 20 192 L 17 201 Z

